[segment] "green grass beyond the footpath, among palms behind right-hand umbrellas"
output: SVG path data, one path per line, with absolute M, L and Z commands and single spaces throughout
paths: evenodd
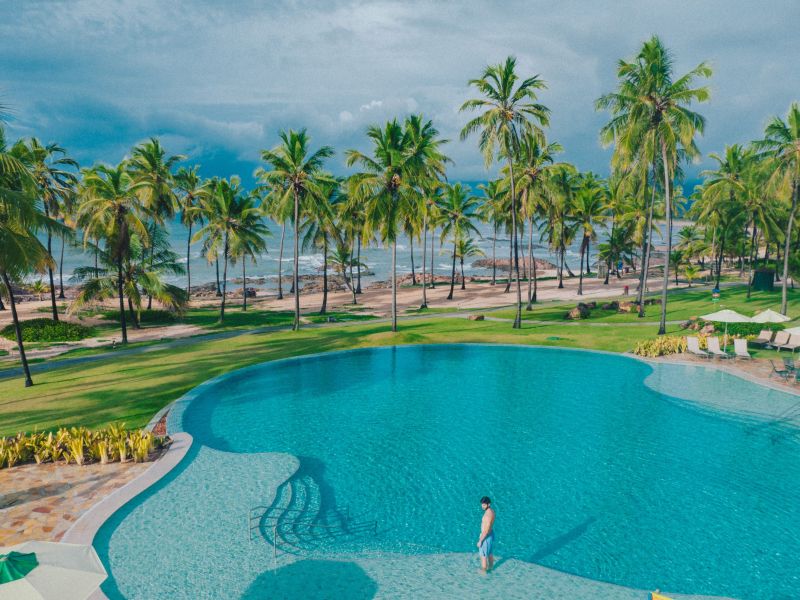
M 732 287 L 723 288 L 719 302 L 712 302 L 711 291 L 708 288 L 703 289 L 687 289 L 681 291 L 671 291 L 669 300 L 667 302 L 667 320 L 679 321 L 686 320 L 690 317 L 699 317 L 723 308 L 735 310 L 747 316 L 753 316 L 756 311 L 771 308 L 779 311 L 781 306 L 781 292 L 775 290 L 773 292 L 753 292 L 750 300 L 747 299 L 747 288 L 745 287 Z M 651 297 L 653 297 L 651 295 Z M 614 300 L 620 300 L 622 297 L 617 296 Z M 629 300 L 634 300 L 635 296 L 630 296 Z M 586 302 L 596 301 L 602 304 L 604 300 L 596 298 L 586 298 Z M 531 311 L 522 312 L 523 319 L 531 319 L 537 321 L 557 321 L 564 322 L 564 315 L 574 308 L 576 302 L 547 302 L 534 305 Z M 659 305 L 651 305 L 645 307 L 645 321 L 658 321 L 661 316 L 661 307 Z M 494 317 L 514 318 L 513 309 L 503 309 L 492 312 Z M 789 316 L 798 318 L 800 317 L 800 289 L 789 290 Z M 616 311 L 604 311 L 602 309 L 595 309 L 592 311 L 592 316 L 584 322 L 592 323 L 636 323 L 640 319 L 636 312 L 632 313 L 617 313 Z

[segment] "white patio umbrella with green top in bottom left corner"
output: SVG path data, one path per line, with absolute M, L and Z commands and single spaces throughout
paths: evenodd
M 86 600 L 107 577 L 97 553 L 83 544 L 24 542 L 0 548 L 0 560 L 11 561 L 33 553 L 34 566 L 17 571 L 12 581 L 0 584 L 0 600 Z M 12 570 L 13 572 L 13 570 Z

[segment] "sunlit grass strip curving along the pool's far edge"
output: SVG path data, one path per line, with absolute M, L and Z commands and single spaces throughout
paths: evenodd
M 653 336 L 652 326 L 580 327 L 527 325 L 466 319 L 425 319 L 198 339 L 196 343 L 138 355 L 116 356 L 0 380 L 0 435 L 60 425 L 102 427 L 114 421 L 141 426 L 167 403 L 202 381 L 233 369 L 301 354 L 387 344 L 487 342 L 594 348 L 624 352 Z M 557 338 L 557 339 L 551 339 Z

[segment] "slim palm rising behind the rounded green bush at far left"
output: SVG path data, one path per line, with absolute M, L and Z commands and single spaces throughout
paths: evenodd
M 29 165 L 45 216 L 48 219 L 60 217 L 62 207 L 69 201 L 76 183 L 75 175 L 66 169 L 77 169 L 78 163 L 69 158 L 66 150 L 58 144 L 44 146 L 36 138 L 31 138 L 27 142 L 18 142 L 17 146 L 22 155 L 21 159 Z M 47 253 L 51 257 L 53 256 L 53 235 L 50 230 L 47 231 Z M 47 274 L 50 278 L 50 303 L 53 320 L 58 321 L 52 265 L 47 267 Z

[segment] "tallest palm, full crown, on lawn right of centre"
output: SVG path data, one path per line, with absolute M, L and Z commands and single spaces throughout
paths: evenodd
M 689 110 L 693 102 L 709 98 L 707 87 L 693 87 L 698 78 L 711 76 L 711 68 L 700 63 L 687 74 L 675 78 L 672 56 L 661 40 L 646 41 L 631 62 L 620 61 L 617 92 L 597 101 L 598 108 L 609 109 L 612 120 L 601 132 L 603 141 L 615 143 L 616 160 L 623 167 L 638 164 L 643 171 L 652 166 L 653 179 L 658 164 L 663 170 L 663 191 L 667 257 L 672 251 L 672 195 L 678 160 L 699 155 L 694 138 L 703 133 L 705 119 Z M 658 333 L 666 333 L 669 261 L 664 264 L 661 288 L 661 321 Z

